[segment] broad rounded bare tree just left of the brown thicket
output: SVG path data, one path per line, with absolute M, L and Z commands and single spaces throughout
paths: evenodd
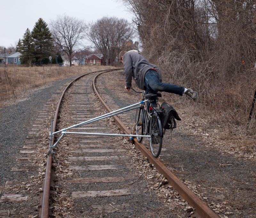
M 101 51 L 104 58 L 110 58 L 111 64 L 116 55 L 133 38 L 131 24 L 125 19 L 103 17 L 90 24 L 88 39 Z

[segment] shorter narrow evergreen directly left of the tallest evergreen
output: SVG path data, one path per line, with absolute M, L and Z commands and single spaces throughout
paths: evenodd
M 21 53 L 22 53 L 22 55 L 20 56 L 21 63 L 25 63 L 31 66 L 31 64 L 35 61 L 34 44 L 33 44 L 32 35 L 28 28 L 23 35 Z

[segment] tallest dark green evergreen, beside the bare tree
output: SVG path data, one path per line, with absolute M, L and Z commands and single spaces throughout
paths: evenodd
M 41 62 L 46 55 L 45 51 L 52 51 L 53 47 L 52 34 L 47 26 L 47 23 L 45 23 L 42 18 L 39 18 L 36 22 L 31 35 L 34 39 L 36 62 L 41 65 Z

